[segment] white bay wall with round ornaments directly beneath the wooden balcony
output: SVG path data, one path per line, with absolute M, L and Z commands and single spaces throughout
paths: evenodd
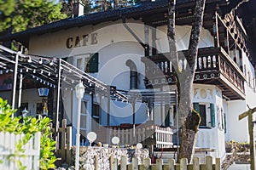
M 200 127 L 197 133 L 196 147 L 215 149 L 216 157 L 224 157 L 224 128 L 220 117 L 223 110 L 223 99 L 221 90 L 215 85 L 194 84 L 193 103 L 206 105 L 206 127 Z M 211 124 L 210 104 L 214 105 L 215 127 Z M 223 115 L 222 115 L 223 116 Z

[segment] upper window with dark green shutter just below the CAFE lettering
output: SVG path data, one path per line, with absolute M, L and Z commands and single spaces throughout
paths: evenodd
M 98 56 L 98 53 L 76 56 L 74 65 L 84 72 L 98 72 Z

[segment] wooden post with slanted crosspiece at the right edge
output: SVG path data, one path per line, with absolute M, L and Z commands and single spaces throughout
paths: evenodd
M 251 169 L 255 169 L 255 148 L 254 148 L 254 136 L 253 136 L 253 113 L 256 111 L 256 107 L 251 109 L 248 105 L 247 107 L 249 108 L 248 111 L 243 112 L 241 115 L 238 116 L 239 121 L 243 119 L 244 117 L 247 117 L 248 120 L 248 131 L 250 135 L 250 157 L 251 157 Z

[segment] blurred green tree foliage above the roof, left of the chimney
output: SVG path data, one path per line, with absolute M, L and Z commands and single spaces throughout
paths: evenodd
M 0 31 L 18 32 L 67 17 L 51 0 L 0 0 Z

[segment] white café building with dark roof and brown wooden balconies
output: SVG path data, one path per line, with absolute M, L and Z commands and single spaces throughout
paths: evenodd
M 238 116 L 247 111 L 247 105 L 255 105 L 253 99 L 256 97 L 246 31 L 234 11 L 221 13 L 222 8 L 224 11 L 229 9 L 224 2 L 207 1 L 191 94 L 194 108 L 201 114 L 196 147 L 211 149 L 212 156 L 223 159 L 225 141 L 248 141 L 247 120 L 238 121 Z M 177 2 L 176 39 L 180 65 L 186 63 L 183 56 L 189 47 L 194 5 L 194 1 Z M 147 2 L 61 20 L 8 38 L 25 42 L 31 55 L 65 59 L 84 74 L 127 96 L 136 94 L 133 102 L 108 100 L 101 90 L 87 83 L 82 99 L 80 132 L 86 137 L 87 133 L 95 131 L 99 140 L 110 143 L 104 127 L 139 127 L 151 121 L 161 127 L 172 127 L 176 132 L 176 105 L 158 101 L 156 95 L 152 97 L 154 102 L 143 102 L 145 93 L 177 90 L 172 63 L 166 58 L 169 52 L 166 12 L 166 2 Z M 75 134 L 78 99 L 75 84 L 66 79 L 73 82 L 72 77 L 61 77 L 59 114 L 67 118 Z M 56 90 L 50 87 L 50 91 L 49 101 L 54 111 Z M 37 93 L 35 86 L 23 89 L 21 104 L 26 105 L 32 116 L 40 114 L 41 98 Z M 8 89 L 0 95 L 11 100 Z M 55 117 L 56 114 L 51 115 Z

